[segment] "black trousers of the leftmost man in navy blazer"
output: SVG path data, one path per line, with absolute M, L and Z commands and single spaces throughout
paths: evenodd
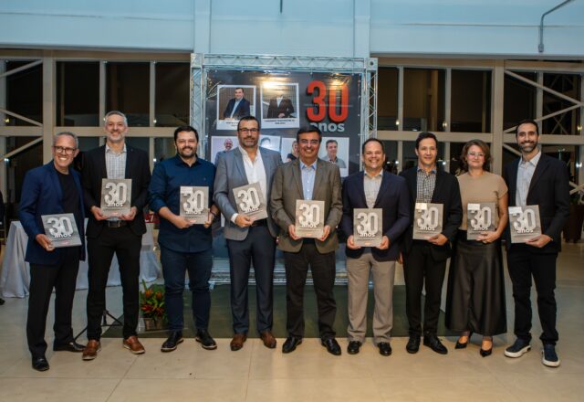
M 34 357 L 47 352 L 45 327 L 48 305 L 55 288 L 55 345 L 73 341 L 71 310 L 79 270 L 79 249 L 62 249 L 63 258 L 57 265 L 30 264 L 30 288 L 26 317 L 28 350 Z

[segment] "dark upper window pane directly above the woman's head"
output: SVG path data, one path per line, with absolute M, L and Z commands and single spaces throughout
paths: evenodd
M 451 132 L 491 131 L 491 72 L 453 69 Z

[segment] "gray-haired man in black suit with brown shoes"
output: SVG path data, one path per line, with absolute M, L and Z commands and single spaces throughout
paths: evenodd
M 82 181 L 85 206 L 89 210 L 87 228 L 89 257 L 88 344 L 83 360 L 93 360 L 101 348 L 101 316 L 106 309 L 105 288 L 114 252 L 120 263 L 123 290 L 123 347 L 143 354 L 136 336 L 139 310 L 140 249 L 146 232 L 142 210 L 146 206 L 151 173 L 147 153 L 125 143 L 128 120 L 120 111 L 105 117 L 106 144 L 85 153 Z M 101 181 L 131 179 L 130 213 L 120 218 L 105 216 L 101 209 Z

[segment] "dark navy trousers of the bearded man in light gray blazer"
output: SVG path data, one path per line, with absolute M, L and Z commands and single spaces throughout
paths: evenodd
M 231 276 L 231 312 L 234 333 L 249 330 L 247 282 L 252 262 L 256 285 L 257 312 L 255 328 L 258 332 L 272 329 L 274 308 L 274 262 L 276 239 L 266 226 L 250 227 L 245 240 L 227 240 Z

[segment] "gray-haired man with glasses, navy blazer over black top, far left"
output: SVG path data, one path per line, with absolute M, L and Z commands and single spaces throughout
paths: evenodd
M 28 236 L 25 259 L 30 263 L 26 338 L 33 368 L 38 371 L 48 370 L 45 325 L 53 288 L 53 350 L 81 352 L 84 347 L 74 341 L 71 328 L 79 259 L 85 259 L 83 191 L 78 172 L 69 169 L 77 154 L 77 136 L 59 132 L 53 140 L 53 160 L 28 171 L 22 186 L 20 221 Z M 55 249 L 45 235 L 41 216 L 66 213 L 75 217 L 82 246 Z

